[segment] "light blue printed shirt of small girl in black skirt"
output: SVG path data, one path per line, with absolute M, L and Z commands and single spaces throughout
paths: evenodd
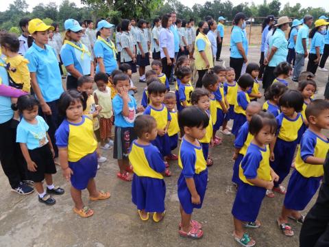
M 36 124 L 29 124 L 25 119 L 22 119 L 17 126 L 16 142 L 25 143 L 28 150 L 41 148 L 48 143 L 47 131 L 49 126 L 45 120 L 36 116 Z

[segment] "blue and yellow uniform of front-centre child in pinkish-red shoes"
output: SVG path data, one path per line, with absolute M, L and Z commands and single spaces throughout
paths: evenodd
M 178 165 L 182 168 L 180 178 L 178 178 L 178 198 L 184 212 L 191 214 L 193 209 L 201 209 L 207 188 L 208 169 L 201 144 L 193 145 L 183 138 L 180 144 Z M 186 178 L 193 178 L 195 189 L 200 196 L 200 204 L 192 204 L 191 193 L 186 185 Z

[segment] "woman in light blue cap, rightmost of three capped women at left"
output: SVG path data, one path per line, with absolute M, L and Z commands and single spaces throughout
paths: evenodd
M 96 73 L 103 72 L 110 75 L 117 69 L 117 49 L 110 40 L 111 30 L 114 25 L 105 20 L 97 23 L 97 40 L 94 45 L 95 57 L 97 59 Z

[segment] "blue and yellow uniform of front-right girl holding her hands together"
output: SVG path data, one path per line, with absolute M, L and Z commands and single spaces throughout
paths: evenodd
M 256 221 L 266 189 L 250 183 L 247 179 L 259 178 L 271 181 L 271 167 L 269 166 L 269 146 L 260 148 L 250 143 L 247 153 L 239 166 L 238 191 L 232 207 L 232 215 L 244 222 Z

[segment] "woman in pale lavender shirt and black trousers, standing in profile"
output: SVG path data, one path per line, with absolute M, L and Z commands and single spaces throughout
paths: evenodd
M 175 43 L 173 40 L 173 32 L 170 30 L 172 25 L 170 14 L 164 14 L 164 16 L 162 16 L 161 25 L 163 28 L 160 30 L 159 43 L 162 72 L 166 74 L 169 80 L 171 69 L 175 62 Z

